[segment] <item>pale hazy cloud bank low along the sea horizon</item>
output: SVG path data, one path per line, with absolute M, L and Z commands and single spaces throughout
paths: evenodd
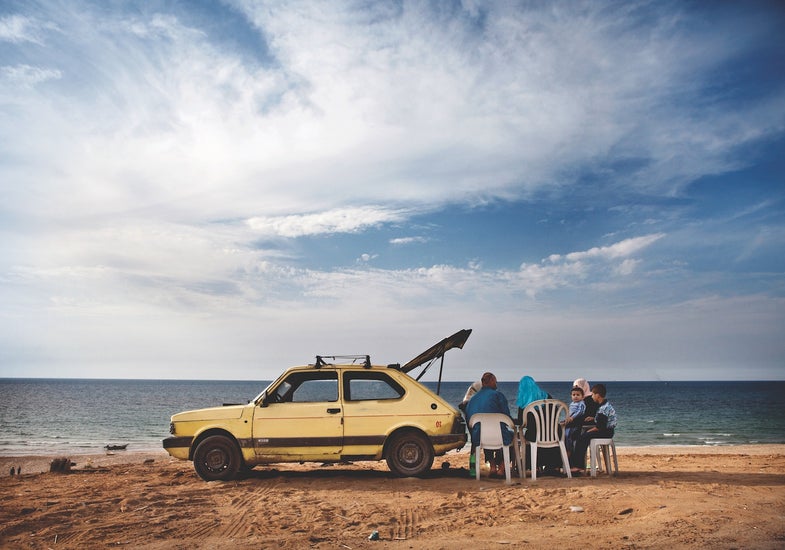
M 55 275 L 62 289 L 70 288 L 72 280 Z M 564 312 L 547 302 L 521 300 L 509 287 L 504 292 L 501 276 L 446 266 L 258 275 L 276 284 L 294 280 L 302 285 L 297 294 L 311 300 L 283 300 L 277 291 L 265 299 L 261 288 L 236 302 L 175 292 L 172 298 L 193 301 L 178 309 L 146 299 L 148 293 L 165 292 L 165 286 L 141 295 L 132 287 L 133 300 L 79 304 L 62 296 L 40 316 L 29 304 L 18 314 L 9 309 L 19 296 L 9 296 L 14 287 L 6 284 L 2 315 L 14 313 L 16 326 L 13 339 L 9 331 L 0 333 L 2 364 L 8 366 L 3 369 L 13 364 L 9 357 L 26 349 L 28 375 L 39 372 L 37 360 L 49 368 L 67 366 L 70 376 L 265 379 L 315 353 L 371 353 L 381 362 L 405 361 L 459 328 L 474 333 L 466 348 L 449 358 L 451 380 L 471 379 L 478 363 L 496 365 L 503 380 L 517 380 L 521 369 L 543 380 L 679 379 L 699 372 L 696 368 L 706 369 L 702 377 L 744 378 L 748 371 L 740 371 L 740 365 L 764 368 L 771 377 L 785 353 L 779 330 L 785 326 L 785 304 L 765 296 Z M 502 303 L 489 299 L 495 293 Z

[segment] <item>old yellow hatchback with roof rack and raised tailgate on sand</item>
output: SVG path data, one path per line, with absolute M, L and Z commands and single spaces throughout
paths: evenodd
M 207 481 L 233 479 L 260 464 L 382 459 L 397 475 L 420 475 L 434 456 L 465 445 L 466 425 L 459 411 L 408 373 L 463 347 L 469 333 L 445 338 L 403 367 L 374 366 L 368 356 L 317 356 L 312 365 L 285 371 L 246 405 L 175 414 L 164 449 L 193 460 Z M 328 362 L 337 359 L 344 362 Z

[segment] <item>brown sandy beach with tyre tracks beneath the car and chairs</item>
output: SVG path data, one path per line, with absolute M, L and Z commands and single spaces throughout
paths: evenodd
M 229 483 L 163 451 L 53 458 L 0 457 L 0 547 L 785 547 L 785 445 L 620 448 L 616 477 L 512 485 L 470 479 L 465 450 L 421 479 L 357 462 Z

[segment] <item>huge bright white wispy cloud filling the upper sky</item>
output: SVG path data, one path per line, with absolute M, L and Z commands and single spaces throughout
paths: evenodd
M 45 51 L 59 65 L 30 63 L 19 77 L 79 87 L 29 98 L 13 121 L 29 131 L 12 139 L 0 128 L 0 137 L 11 157 L 46 158 L 30 171 L 58 173 L 62 184 L 35 199 L 20 193 L 12 207 L 78 216 L 176 203 L 194 221 L 205 211 L 265 219 L 389 201 L 433 208 L 569 185 L 613 156 L 640 159 L 625 185 L 656 193 L 727 169 L 728 151 L 785 119 L 774 100 L 738 114 L 666 108 L 734 52 L 712 40 L 698 54 L 692 44 L 706 36 L 681 34 L 656 13 L 641 29 L 602 6 L 490 5 L 478 32 L 476 10 L 237 6 L 274 62 L 248 63 L 173 14 L 106 11 L 90 25 L 97 15 L 52 8 L 58 46 L 76 55 Z M 6 37 L 30 34 L 20 17 L 4 19 Z

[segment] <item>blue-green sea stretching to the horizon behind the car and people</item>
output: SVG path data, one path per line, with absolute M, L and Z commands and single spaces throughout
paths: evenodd
M 592 381 L 594 382 L 594 381 Z M 616 443 L 785 443 L 785 381 L 605 382 L 619 418 Z M 0 456 L 160 450 L 172 414 L 247 403 L 269 381 L 0 379 Z M 457 405 L 470 381 L 424 384 Z M 569 402 L 569 381 L 539 382 Z M 500 382 L 517 413 L 517 382 Z

